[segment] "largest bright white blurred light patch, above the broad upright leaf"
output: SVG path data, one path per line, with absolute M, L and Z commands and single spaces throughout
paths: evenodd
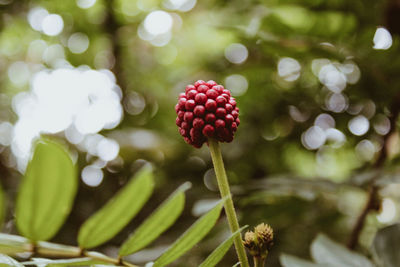
M 42 133 L 65 131 L 67 139 L 77 144 L 85 136 L 117 126 L 123 115 L 119 91 L 106 70 L 85 67 L 38 72 L 32 79 L 31 90 L 17 94 L 12 101 L 18 120 L 11 149 L 20 160 L 19 170 L 29 159 L 33 140 Z M 106 161 L 115 158 L 119 151 L 115 141 L 104 141 L 92 148 L 93 155 Z

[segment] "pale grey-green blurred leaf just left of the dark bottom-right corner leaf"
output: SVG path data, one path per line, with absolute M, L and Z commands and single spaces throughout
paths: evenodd
M 365 256 L 348 250 L 323 234 L 319 234 L 312 242 L 311 256 L 315 262 L 332 267 L 374 266 Z

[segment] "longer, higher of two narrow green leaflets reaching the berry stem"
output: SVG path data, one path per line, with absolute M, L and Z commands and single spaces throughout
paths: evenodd
M 225 199 L 219 202 L 211 211 L 198 219 L 166 252 L 154 263 L 153 267 L 165 266 L 185 254 L 194 245 L 200 242 L 211 231 L 221 213 Z

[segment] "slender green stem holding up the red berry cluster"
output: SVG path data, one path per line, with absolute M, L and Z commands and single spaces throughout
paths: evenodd
M 211 158 L 214 164 L 215 175 L 217 177 L 221 197 L 225 198 L 228 196 L 227 200 L 225 201 L 224 208 L 229 227 L 232 233 L 234 233 L 239 230 L 239 222 L 236 217 L 235 207 L 233 206 L 231 191 L 229 189 L 229 182 L 228 178 L 226 177 L 224 162 L 222 160 L 221 149 L 219 147 L 218 141 L 215 139 L 209 139 L 208 146 L 210 148 Z M 247 259 L 246 251 L 242 243 L 241 235 L 236 236 L 233 242 L 235 244 L 236 253 L 238 255 L 241 266 L 249 267 L 249 261 Z

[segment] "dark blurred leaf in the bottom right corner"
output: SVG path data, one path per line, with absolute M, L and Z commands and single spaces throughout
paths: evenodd
M 400 224 L 390 225 L 377 232 L 372 248 L 382 266 L 400 266 L 399 241 Z

